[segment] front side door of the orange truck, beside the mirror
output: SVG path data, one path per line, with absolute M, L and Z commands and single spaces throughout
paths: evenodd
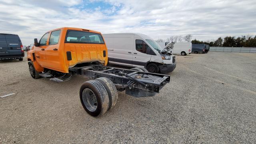
M 42 36 L 41 40 L 39 41 L 39 46 L 34 46 L 36 61 L 40 66 L 46 65 L 45 49 L 48 44 L 48 37 L 49 37 L 49 32 L 44 34 L 44 36 Z

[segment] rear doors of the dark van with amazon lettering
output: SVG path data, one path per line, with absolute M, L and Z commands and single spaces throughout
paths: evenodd
M 9 56 L 22 56 L 21 41 L 18 35 L 6 34 L 5 35 Z

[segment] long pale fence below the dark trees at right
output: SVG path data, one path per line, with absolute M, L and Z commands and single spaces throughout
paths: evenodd
M 214 52 L 251 52 L 251 53 L 256 53 L 256 48 L 210 47 L 210 51 L 214 51 Z

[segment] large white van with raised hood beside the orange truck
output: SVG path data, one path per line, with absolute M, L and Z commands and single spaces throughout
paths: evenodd
M 103 37 L 110 64 L 144 67 L 153 73 L 168 73 L 176 68 L 175 56 L 145 34 L 103 34 Z

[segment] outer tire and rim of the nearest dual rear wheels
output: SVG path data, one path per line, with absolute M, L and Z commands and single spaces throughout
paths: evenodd
M 108 92 L 101 82 L 97 80 L 84 82 L 80 87 L 79 94 L 84 110 L 91 116 L 98 117 L 107 112 Z

